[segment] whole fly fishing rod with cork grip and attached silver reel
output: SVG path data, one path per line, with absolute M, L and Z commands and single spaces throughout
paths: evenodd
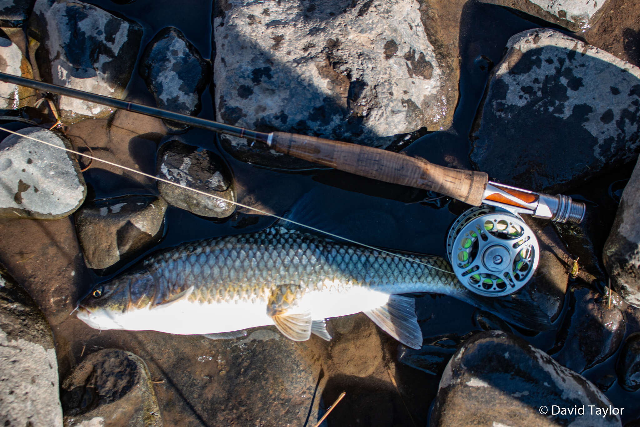
M 580 223 L 586 211 L 584 203 L 565 195 L 499 184 L 488 181 L 484 172 L 447 168 L 387 150 L 301 134 L 252 131 L 11 74 L 0 73 L 0 81 L 259 141 L 299 159 L 461 200 L 474 207 L 453 223 L 447 234 L 447 254 L 460 281 L 468 289 L 487 296 L 517 291 L 538 266 L 538 240 L 520 214 Z

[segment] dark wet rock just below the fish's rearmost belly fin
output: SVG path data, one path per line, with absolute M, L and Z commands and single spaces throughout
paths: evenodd
M 465 335 L 446 334 L 440 337 L 425 338 L 422 348 L 415 350 L 402 344 L 398 346 L 398 362 L 415 367 L 431 375 L 440 376 L 453 353 L 460 344 L 467 341 L 477 332 Z

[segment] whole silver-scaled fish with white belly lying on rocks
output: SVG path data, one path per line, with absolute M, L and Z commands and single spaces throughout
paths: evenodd
M 325 319 L 364 312 L 397 341 L 421 348 L 415 298 L 446 294 L 527 329 L 550 322 L 526 294 L 472 293 L 435 255 L 387 253 L 278 225 L 186 243 L 97 284 L 77 318 L 100 330 L 156 330 L 212 339 L 275 325 L 293 341 L 330 341 Z

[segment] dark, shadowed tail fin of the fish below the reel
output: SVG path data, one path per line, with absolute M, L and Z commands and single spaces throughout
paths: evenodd
M 540 332 L 553 329 L 547 313 L 543 312 L 538 304 L 531 299 L 531 296 L 524 291 L 497 298 L 481 296 L 468 291 L 465 294 L 456 295 L 456 298 L 493 313 L 520 328 Z

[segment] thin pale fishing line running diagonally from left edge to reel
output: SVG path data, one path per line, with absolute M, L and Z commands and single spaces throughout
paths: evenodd
M 353 243 L 354 245 L 364 246 L 365 248 L 376 250 L 378 252 L 382 252 L 383 254 L 392 255 L 394 257 L 405 259 L 406 261 L 416 262 L 417 264 L 422 264 L 423 266 L 426 266 L 428 268 L 433 268 L 435 270 L 439 270 L 439 271 L 442 271 L 442 272 L 450 274 L 450 275 L 455 275 L 455 273 L 452 273 L 452 271 L 442 270 L 442 268 L 438 268 L 438 267 L 432 266 L 430 264 L 426 264 L 426 262 L 417 261 L 416 259 L 412 259 L 410 257 L 405 257 L 404 255 L 394 254 L 394 252 L 390 252 L 388 250 L 376 248 L 375 246 L 367 245 L 366 243 L 360 243 L 360 242 L 352 240 L 352 239 L 343 238 L 342 236 L 338 236 L 337 234 L 333 234 L 331 232 L 324 231 L 324 230 L 321 230 L 321 229 L 316 229 L 316 227 L 312 227 L 310 225 L 305 225 L 303 223 L 299 223 L 297 221 L 290 220 L 289 218 L 284 218 L 284 217 L 278 216 L 276 214 L 272 214 L 272 213 L 269 213 L 269 212 L 266 212 L 266 211 L 262 211 L 262 209 L 258 209 L 257 207 L 251 207 L 249 205 L 245 205 L 245 204 L 242 204 L 240 202 L 234 202 L 232 200 L 227 200 L 224 197 L 216 196 L 214 194 L 206 193 L 205 191 L 201 191 L 199 189 L 195 189 L 195 188 L 191 188 L 191 187 L 188 187 L 188 186 L 184 186 L 184 185 L 179 184 L 177 182 L 169 181 L 168 179 L 156 177 L 155 175 L 150 175 L 149 173 L 141 172 L 140 170 L 135 170 L 135 169 L 132 169 L 132 168 L 128 168 L 127 166 L 118 165 L 118 163 L 113 163 L 113 162 L 108 161 L 108 160 L 99 159 L 98 157 L 90 156 L 89 154 L 84 154 L 84 153 L 78 152 L 76 150 L 70 150 L 67 147 L 60 147 L 59 145 L 55 145 L 55 144 L 52 144 L 52 143 L 47 142 L 47 141 L 38 140 L 37 138 L 33 138 L 33 136 L 24 135 L 24 134 L 21 134 L 21 133 L 10 131 L 9 129 L 6 129 L 4 127 L 0 127 L 0 131 L 4 131 L 4 132 L 7 132 L 7 133 L 12 133 L 14 135 L 21 136 L 22 138 L 28 138 L 29 140 L 33 140 L 33 141 L 37 141 L 37 142 L 43 143 L 45 145 L 49 145 L 50 147 L 54 147 L 55 149 L 64 150 L 64 151 L 76 154 L 77 156 L 87 157 L 88 159 L 92 159 L 92 160 L 95 160 L 95 161 L 106 163 L 107 165 L 115 166 L 116 168 L 121 168 L 121 169 L 124 169 L 124 170 L 128 170 L 129 172 L 133 172 L 133 173 L 138 173 L 138 175 L 143 175 L 143 176 L 145 176 L 147 178 L 156 179 L 157 181 L 166 182 L 167 184 L 171 184 L 171 185 L 176 186 L 176 187 L 188 189 L 188 190 L 194 191 L 195 193 L 198 193 L 198 194 L 202 194 L 202 195 L 205 195 L 205 196 L 217 198 L 218 200 L 223 200 L 225 202 L 234 204 L 236 206 L 244 207 L 245 209 L 249 209 L 250 211 L 255 211 L 255 212 L 267 215 L 267 216 L 271 216 L 271 217 L 276 218 L 278 220 L 282 220 L 282 221 L 286 221 L 286 222 L 292 223 L 294 225 L 298 225 L 299 227 L 304 227 L 305 229 L 308 229 L 308 230 L 314 230 L 316 232 L 319 232 L 319 233 L 322 233 L 322 234 L 326 234 L 327 236 L 331 236 L 332 238 L 348 241 L 349 243 Z

